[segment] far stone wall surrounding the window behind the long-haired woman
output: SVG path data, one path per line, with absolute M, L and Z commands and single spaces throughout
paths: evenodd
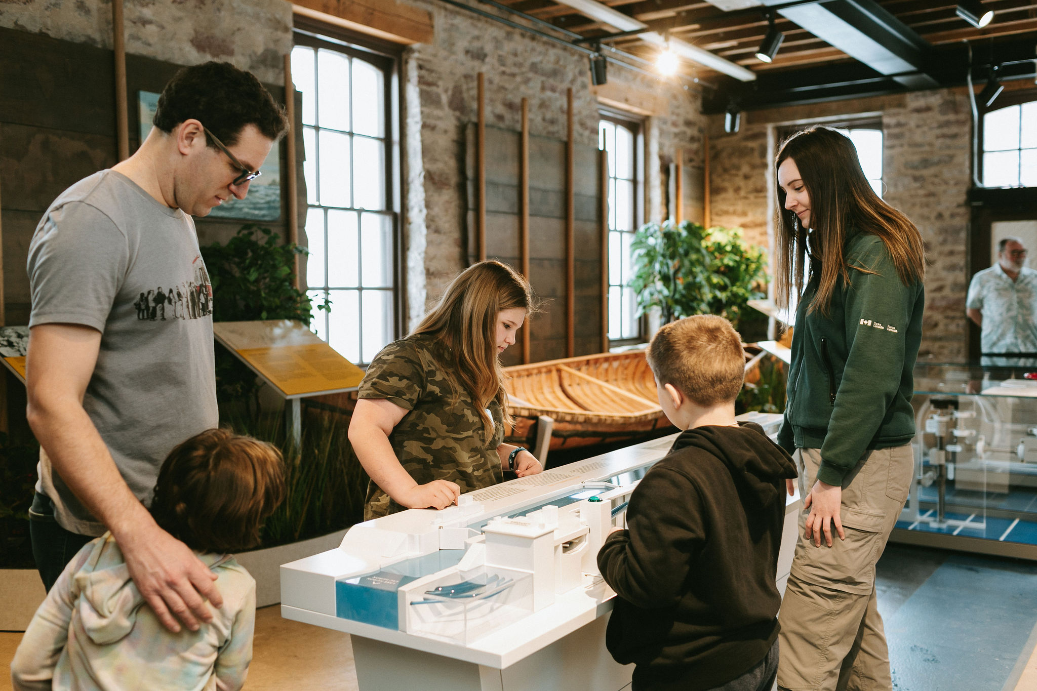
M 970 211 L 971 117 L 964 91 L 937 89 L 895 96 L 742 114 L 736 135 L 710 118 L 712 223 L 741 226 L 768 244 L 774 228 L 776 129 L 786 124 L 881 117 L 884 199 L 918 226 L 926 244 L 926 309 L 920 356 L 963 358 Z

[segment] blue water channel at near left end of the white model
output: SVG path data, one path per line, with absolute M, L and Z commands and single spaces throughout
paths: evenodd
M 342 578 L 335 582 L 335 615 L 399 630 L 399 598 L 396 595 L 399 588 L 422 576 L 457 566 L 464 555 L 464 549 L 441 549 L 369 574 Z

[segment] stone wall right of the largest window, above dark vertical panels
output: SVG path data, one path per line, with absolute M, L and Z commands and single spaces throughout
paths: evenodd
M 442 3 L 411 0 L 411 4 L 429 10 L 436 27 L 433 42 L 408 51 L 409 66 L 404 68 L 421 109 L 425 202 L 424 229 L 412 224 L 408 242 L 412 248 L 424 244 L 420 263 L 427 282 L 427 289 L 411 285 L 409 291 L 413 296 L 424 291 L 431 300 L 465 265 L 465 125 L 476 120 L 478 73 L 485 74 L 487 125 L 518 131 L 521 103 L 526 97 L 530 133 L 564 139 L 566 89 L 571 87 L 576 141 L 596 145 L 598 100 L 592 92 L 587 57 L 577 51 Z M 661 167 L 673 161 L 678 147 L 685 149 L 686 166 L 702 166 L 705 117 L 700 115 L 699 94 L 677 82 L 615 64 L 609 65 L 609 84 L 635 94 L 652 94 L 652 104 L 646 109 L 655 113 L 645 128 L 649 152 L 645 162 L 645 218 L 658 220 Z M 412 182 L 414 177 L 412 174 Z M 424 238 L 417 236 L 422 230 Z M 419 264 L 413 255 L 409 266 Z M 420 277 L 409 280 L 413 284 Z M 411 306 L 412 316 L 416 309 Z

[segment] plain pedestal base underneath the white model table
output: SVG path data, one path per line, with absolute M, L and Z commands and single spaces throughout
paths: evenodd
M 364 691 L 620 691 L 629 686 L 634 665 L 620 665 L 601 644 L 610 615 L 504 669 L 354 634 L 357 681 Z

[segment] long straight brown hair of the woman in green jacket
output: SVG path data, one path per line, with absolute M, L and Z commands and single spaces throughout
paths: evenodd
M 849 283 L 849 269 L 866 273 L 868 266 L 847 264 L 843 256 L 850 229 L 871 233 L 886 244 L 897 276 L 905 285 L 925 278 L 922 235 L 907 217 L 875 194 L 861 169 L 857 147 L 849 137 L 831 127 L 811 127 L 789 137 L 775 162 L 778 186 L 778 228 L 775 242 L 775 296 L 787 307 L 792 291 L 803 294 L 807 268 L 807 231 L 795 213 L 785 208 L 785 191 L 777 170 L 786 159 L 800 169 L 810 195 L 811 250 L 821 261 L 820 285 L 810 312 L 828 316 L 839 281 Z

